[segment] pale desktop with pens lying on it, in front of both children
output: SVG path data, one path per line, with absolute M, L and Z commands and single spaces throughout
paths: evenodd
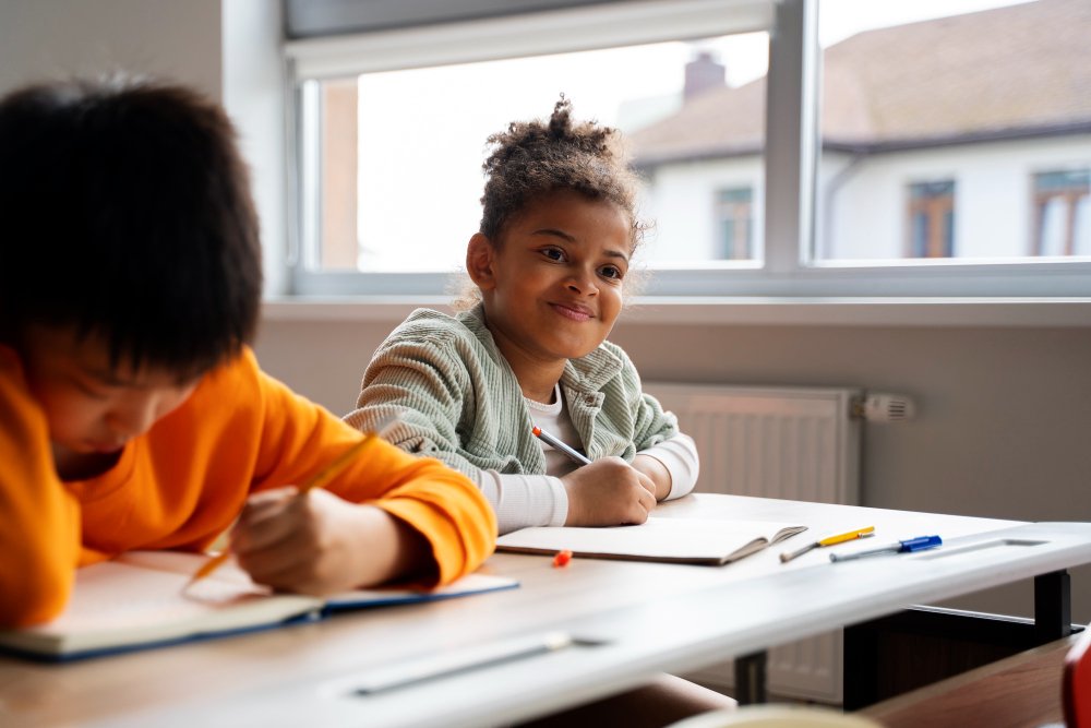
M 790 521 L 811 530 L 724 568 L 496 554 L 520 588 L 337 616 L 231 639 L 72 665 L 0 658 L 4 726 L 484 726 L 555 712 L 661 671 L 726 658 L 1091 562 L 1091 524 L 1021 524 L 731 496 L 692 496 L 672 517 Z M 943 550 L 831 564 L 778 554 L 876 526 L 878 539 L 942 534 Z M 561 631 L 567 649 L 412 688 L 355 694 L 360 676 L 423 656 Z

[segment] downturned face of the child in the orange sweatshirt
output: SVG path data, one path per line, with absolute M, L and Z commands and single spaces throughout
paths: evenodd
M 180 382 L 158 369 L 110 366 L 101 339 L 71 329 L 34 325 L 22 339 L 31 391 L 49 421 L 55 447 L 71 454 L 116 453 L 185 402 L 199 379 Z

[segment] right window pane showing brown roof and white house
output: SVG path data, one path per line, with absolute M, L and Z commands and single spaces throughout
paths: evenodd
M 1091 3 L 824 0 L 819 34 L 816 262 L 1087 254 Z

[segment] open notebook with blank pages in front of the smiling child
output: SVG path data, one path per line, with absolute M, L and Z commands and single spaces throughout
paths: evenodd
M 794 536 L 806 526 L 766 521 L 657 518 L 639 526 L 523 528 L 496 541 L 496 550 L 577 557 L 720 565 Z

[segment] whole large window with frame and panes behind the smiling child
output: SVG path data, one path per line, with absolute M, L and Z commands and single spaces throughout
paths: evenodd
M 630 140 L 648 295 L 1091 290 L 1081 0 L 286 2 L 367 21 L 286 45 L 296 293 L 443 294 L 485 138 L 562 92 Z

